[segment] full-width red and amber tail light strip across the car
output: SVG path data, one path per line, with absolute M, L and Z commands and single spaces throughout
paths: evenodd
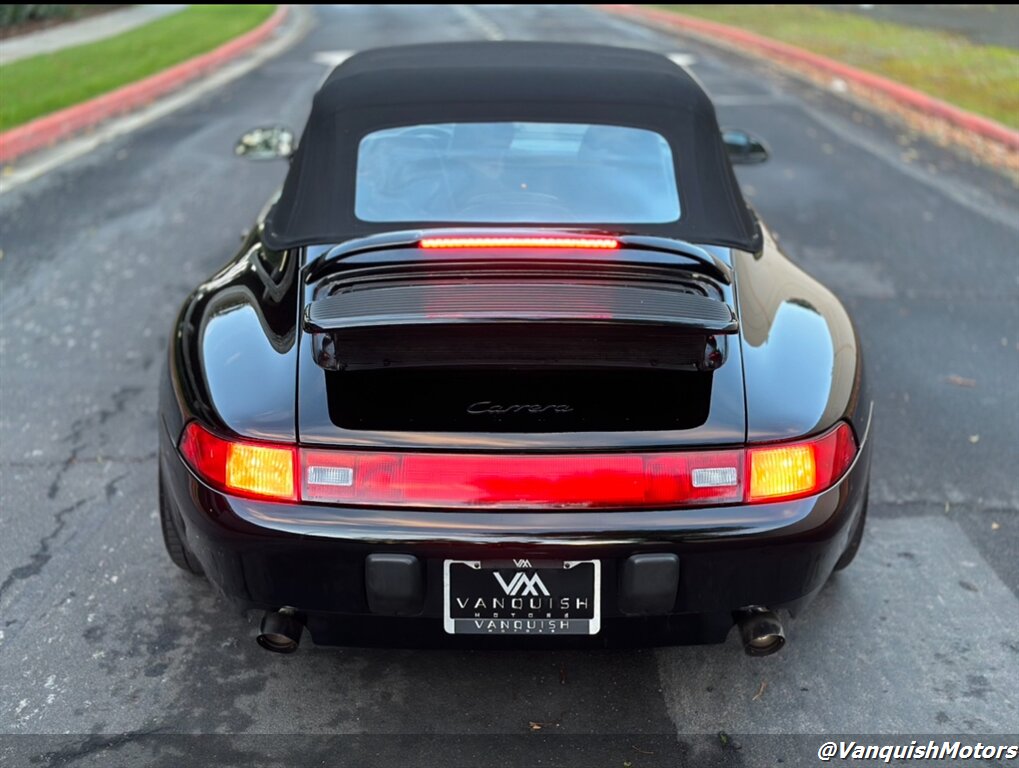
M 239 496 L 516 509 L 668 508 L 801 498 L 835 485 L 852 464 L 856 450 L 848 424 L 810 440 L 672 453 L 299 450 L 223 440 L 194 423 L 180 441 L 180 452 L 199 475 Z

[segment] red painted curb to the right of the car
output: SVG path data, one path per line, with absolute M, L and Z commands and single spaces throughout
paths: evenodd
M 829 59 L 826 56 L 811 53 L 787 43 L 780 43 L 776 40 L 764 38 L 746 30 L 730 26 L 729 24 L 706 21 L 673 11 L 644 8 L 635 5 L 601 5 L 599 7 L 611 13 L 635 16 L 679 30 L 699 33 L 700 35 L 720 39 L 729 43 L 738 43 L 754 52 L 764 53 L 773 58 L 785 59 L 797 64 L 807 64 L 815 69 L 841 77 L 848 83 L 855 83 L 870 91 L 875 91 L 917 112 L 938 117 L 957 127 L 977 133 L 993 142 L 998 142 L 1013 152 L 1019 152 L 1019 131 L 1002 125 L 995 120 L 967 112 L 959 107 L 954 107 L 951 104 L 947 104 L 940 99 L 904 86 L 901 83 L 896 83 L 879 74 L 865 72 L 848 64 L 843 64 L 840 61 Z

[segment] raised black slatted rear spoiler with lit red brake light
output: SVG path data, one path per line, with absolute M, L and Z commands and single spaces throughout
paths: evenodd
M 659 259 L 628 263 L 622 238 L 519 230 L 442 237 L 433 230 L 430 253 L 426 240 L 400 234 L 341 246 L 335 258 L 344 268 L 316 286 L 304 329 L 322 368 L 709 371 L 725 362 L 726 339 L 739 331 L 715 282 Z M 713 265 L 711 254 L 697 251 L 681 256 Z M 307 276 L 323 275 L 323 264 L 313 262 Z M 728 277 L 719 264 L 711 271 Z

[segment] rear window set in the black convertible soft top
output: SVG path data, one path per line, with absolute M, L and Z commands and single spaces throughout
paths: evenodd
M 680 218 L 658 133 L 579 123 L 437 123 L 358 148 L 362 221 L 663 224 Z

